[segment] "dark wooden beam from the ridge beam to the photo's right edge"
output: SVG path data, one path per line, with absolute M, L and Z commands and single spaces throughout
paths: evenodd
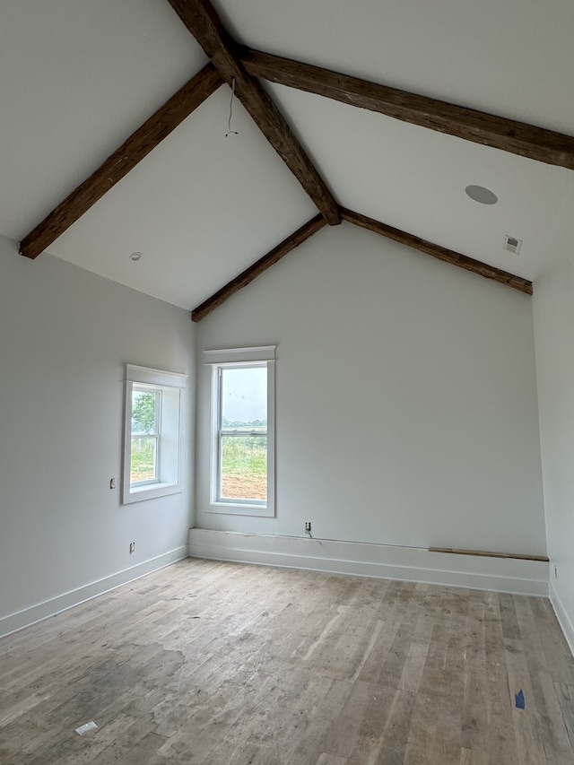
M 241 49 L 240 60 L 248 74 L 271 83 L 316 93 L 439 133 L 456 135 L 465 141 L 482 143 L 503 152 L 574 170 L 574 137 L 571 135 L 465 109 L 446 101 L 249 48 Z

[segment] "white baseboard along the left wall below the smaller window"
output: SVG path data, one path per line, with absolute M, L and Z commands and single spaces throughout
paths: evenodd
M 98 579 L 98 581 L 91 582 L 91 584 L 84 587 L 78 587 L 63 595 L 57 595 L 57 597 L 45 600 L 43 603 L 32 605 L 30 608 L 4 616 L 0 618 L 0 638 L 16 630 L 22 630 L 24 627 L 30 627 L 31 624 L 41 622 L 43 619 L 48 619 L 49 616 L 54 616 L 54 614 L 72 608 L 74 605 L 91 600 L 92 597 L 103 595 L 105 592 L 109 592 L 109 590 L 126 585 L 128 582 L 133 582 L 134 579 L 144 577 L 152 571 L 163 569 L 165 566 L 169 566 L 170 563 L 180 561 L 182 558 L 187 558 L 187 546 L 170 550 L 170 552 L 165 552 L 163 555 L 152 558 L 150 561 L 144 561 L 143 563 L 138 563 L 137 566 L 132 566 L 130 569 L 118 571 L 117 574 L 112 574 L 110 577 Z

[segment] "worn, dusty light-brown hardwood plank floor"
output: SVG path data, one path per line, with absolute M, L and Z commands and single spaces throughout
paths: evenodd
M 2 765 L 574 763 L 543 598 L 187 559 L 0 640 L 0 693 Z

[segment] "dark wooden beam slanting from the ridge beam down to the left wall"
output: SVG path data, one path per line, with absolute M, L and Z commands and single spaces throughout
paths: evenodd
M 158 143 L 216 91 L 223 80 L 211 64 L 192 77 L 143 126 L 109 156 L 101 167 L 65 197 L 65 200 L 22 239 L 20 254 L 34 258 L 96 204 L 111 187 L 135 168 Z

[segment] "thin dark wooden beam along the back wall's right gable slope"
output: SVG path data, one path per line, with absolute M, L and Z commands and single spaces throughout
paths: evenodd
M 487 265 L 480 260 L 474 260 L 473 257 L 461 255 L 452 249 L 440 247 L 440 245 L 433 244 L 432 242 L 426 241 L 426 239 L 420 239 L 419 237 L 413 236 L 413 234 L 408 234 L 406 231 L 387 226 L 386 223 L 376 221 L 374 218 L 368 218 L 366 215 L 361 215 L 361 213 L 353 213 L 352 210 L 347 210 L 344 207 L 341 208 L 341 217 L 344 221 L 354 223 L 354 225 L 361 226 L 363 229 L 374 231 L 376 234 L 387 237 L 387 239 L 394 239 L 396 242 L 400 242 L 400 244 L 407 245 L 407 247 L 413 249 L 418 249 L 427 255 L 443 260 L 445 263 L 457 265 L 459 268 L 465 268 L 466 271 L 480 274 L 481 276 L 484 276 L 485 279 L 492 279 L 495 282 L 506 284 L 507 287 L 512 287 L 514 290 L 526 292 L 527 295 L 532 295 L 532 282 L 529 282 L 522 276 L 509 274 L 508 271 L 502 271 L 494 265 Z

